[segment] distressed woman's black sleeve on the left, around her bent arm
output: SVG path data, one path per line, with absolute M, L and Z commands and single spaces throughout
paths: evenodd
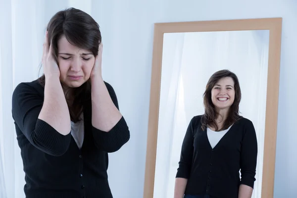
M 41 151 L 63 155 L 70 145 L 71 134 L 64 136 L 38 119 L 43 97 L 29 84 L 19 84 L 12 94 L 12 118 L 29 142 Z

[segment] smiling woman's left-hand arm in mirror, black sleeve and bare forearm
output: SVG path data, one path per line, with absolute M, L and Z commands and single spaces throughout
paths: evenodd
M 192 118 L 182 144 L 181 157 L 175 179 L 174 198 L 184 197 L 188 178 L 190 177 L 194 151 L 194 125 L 194 118 Z

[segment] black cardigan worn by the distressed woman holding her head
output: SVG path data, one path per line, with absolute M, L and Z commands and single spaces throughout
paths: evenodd
M 113 88 L 105 83 L 114 104 Z M 12 117 L 25 171 L 26 198 L 112 198 L 107 180 L 108 152 L 130 138 L 122 117 L 108 133 L 92 126 L 91 100 L 84 106 L 85 135 L 81 149 L 38 119 L 44 87 L 38 81 L 19 84 L 12 95 Z

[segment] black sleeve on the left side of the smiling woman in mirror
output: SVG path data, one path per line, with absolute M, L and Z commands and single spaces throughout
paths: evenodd
M 194 118 L 192 118 L 192 120 L 190 121 L 186 131 L 186 135 L 184 137 L 176 178 L 188 179 L 190 177 L 194 152 Z

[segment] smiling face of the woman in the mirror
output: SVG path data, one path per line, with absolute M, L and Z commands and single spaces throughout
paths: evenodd
M 234 81 L 231 77 L 221 78 L 211 90 L 211 101 L 217 110 L 228 110 L 235 99 Z

